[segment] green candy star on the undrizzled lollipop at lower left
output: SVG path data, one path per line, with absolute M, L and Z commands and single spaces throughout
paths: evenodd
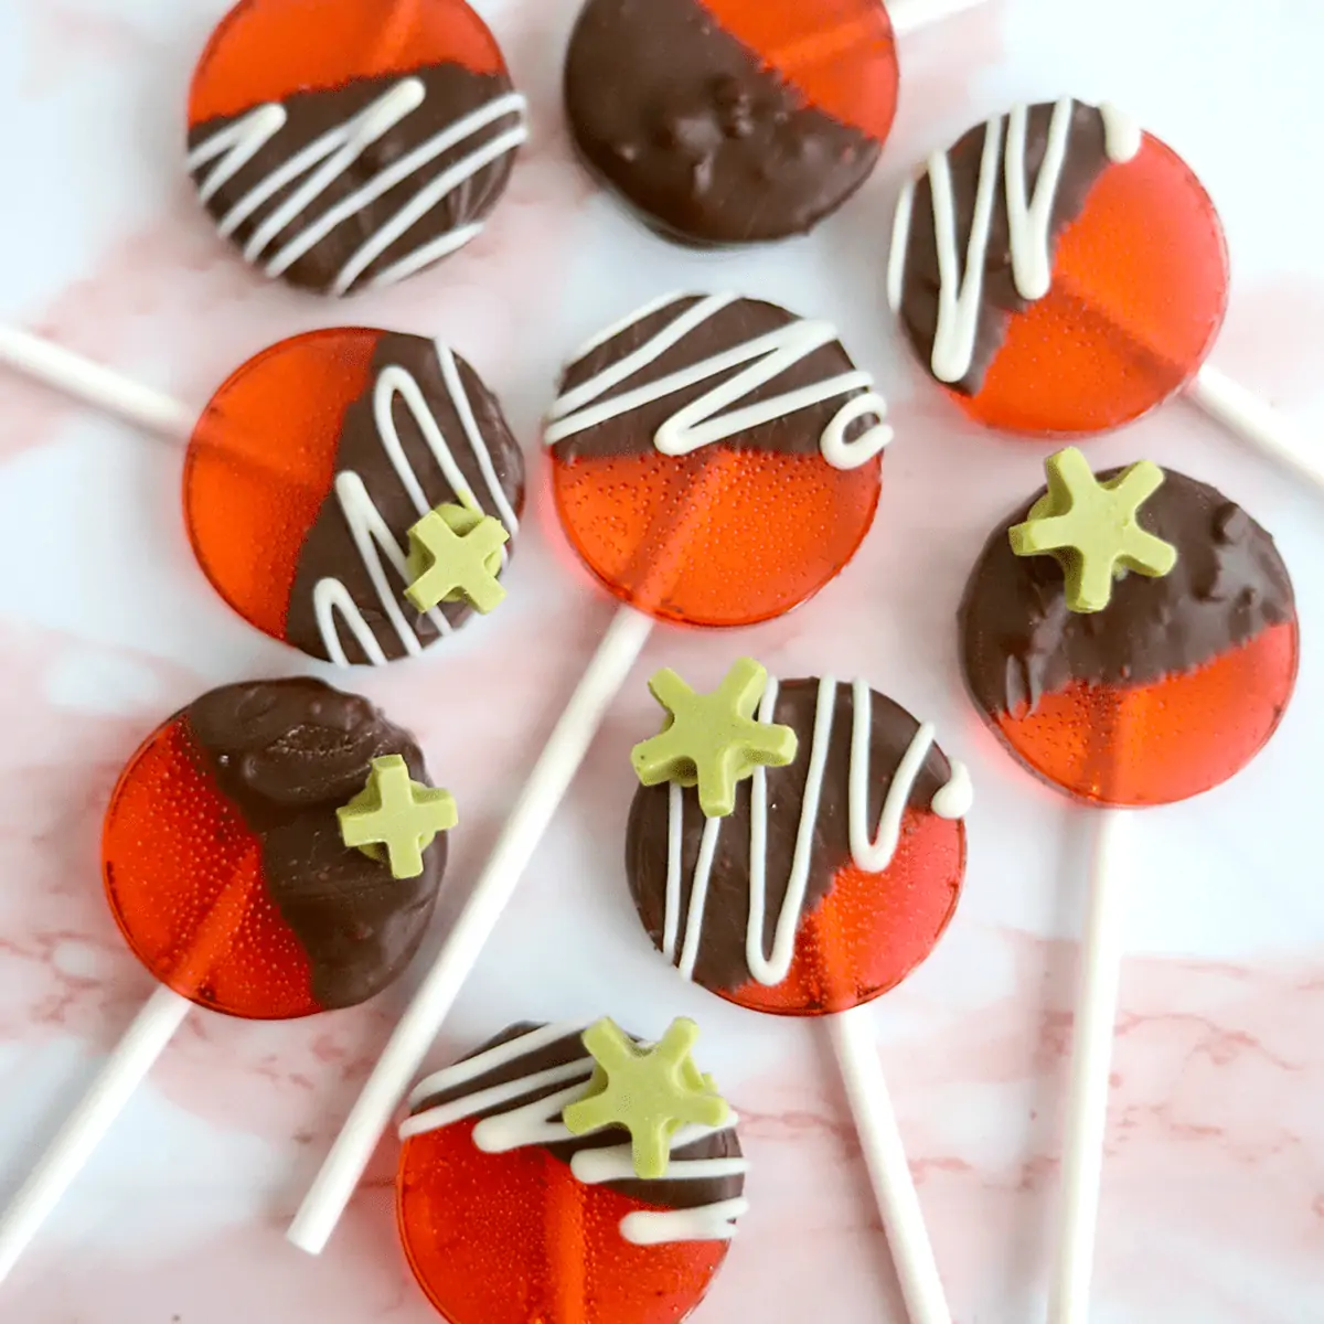
M 437 833 L 459 821 L 455 800 L 440 786 L 424 786 L 409 777 L 409 765 L 397 753 L 372 760 L 368 784 L 336 810 L 340 839 L 372 859 L 385 854 L 392 878 L 417 878 L 422 853 Z

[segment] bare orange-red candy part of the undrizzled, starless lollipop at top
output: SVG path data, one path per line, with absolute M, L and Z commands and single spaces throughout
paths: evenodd
M 879 0 L 702 0 L 804 98 L 883 142 L 896 115 L 896 42 Z

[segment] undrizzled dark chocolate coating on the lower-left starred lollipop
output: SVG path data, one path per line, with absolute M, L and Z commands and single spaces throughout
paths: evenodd
M 430 785 L 413 737 L 367 699 L 320 681 L 256 681 L 204 694 L 184 722 L 207 769 L 258 838 L 271 900 L 311 964 L 326 1009 L 355 1006 L 404 973 L 432 918 L 446 837 L 424 851 L 418 878 L 350 850 L 336 810 L 372 760 L 401 755 Z

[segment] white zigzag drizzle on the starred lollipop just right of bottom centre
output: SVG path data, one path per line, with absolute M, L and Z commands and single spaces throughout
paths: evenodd
M 759 720 L 772 722 L 776 711 L 779 682 L 768 678 L 768 688 L 759 704 Z M 922 723 L 911 740 L 896 772 L 892 775 L 883 812 L 876 830 L 870 835 L 870 739 L 873 735 L 873 691 L 863 681 L 851 686 L 854 714 L 850 739 L 850 773 L 847 782 L 850 855 L 857 869 L 870 874 L 883 873 L 896 854 L 902 821 L 910 804 L 915 782 L 924 768 L 924 760 L 933 744 L 933 727 Z M 814 838 L 818 833 L 818 812 L 822 802 L 824 777 L 828 771 L 828 751 L 831 740 L 833 719 L 837 711 L 837 681 L 824 677 L 818 682 L 818 702 L 814 707 L 814 731 L 809 745 L 809 771 L 805 776 L 805 794 L 801 804 L 800 825 L 790 858 L 790 876 L 777 927 L 773 931 L 772 952 L 764 951 L 764 923 L 767 918 L 768 870 L 768 773 L 756 768 L 749 790 L 749 915 L 745 925 L 745 964 L 751 976 L 768 988 L 780 984 L 789 973 L 796 956 L 796 935 L 809 886 L 809 866 Z M 703 918 L 712 876 L 712 861 L 722 838 L 724 820 L 710 818 L 699 838 L 699 858 L 690 880 L 690 904 L 685 912 L 685 939 L 677 957 L 681 939 L 681 875 L 685 843 L 685 793 L 671 782 L 667 808 L 667 871 L 666 910 L 662 928 L 662 955 L 674 961 L 681 973 L 694 978 L 694 968 L 703 941 Z M 965 765 L 952 760 L 952 777 L 933 796 L 932 810 L 940 818 L 964 818 L 969 813 L 972 789 Z

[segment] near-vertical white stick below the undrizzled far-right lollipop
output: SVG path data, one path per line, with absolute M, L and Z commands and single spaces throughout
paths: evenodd
M 1062 1242 L 1049 1298 L 1050 1324 L 1086 1324 L 1099 1221 L 1103 1144 L 1108 1125 L 1112 1031 L 1121 977 L 1123 865 L 1117 839 L 1131 812 L 1099 810 L 1088 911 L 1080 945 L 1080 986 L 1071 1045 L 1071 1084 L 1062 1153 Z

